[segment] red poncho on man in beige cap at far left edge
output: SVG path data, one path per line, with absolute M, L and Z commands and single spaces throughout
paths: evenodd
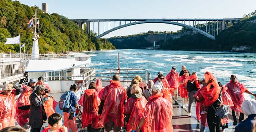
M 0 93 L 0 130 L 5 127 L 15 126 L 15 92 L 16 89 L 13 89 L 11 95 Z

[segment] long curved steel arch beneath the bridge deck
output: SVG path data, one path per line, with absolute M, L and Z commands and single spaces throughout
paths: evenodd
M 213 35 L 208 34 L 207 32 L 205 32 L 203 30 L 200 30 L 200 29 L 195 28 L 193 26 L 185 25 L 185 24 L 182 24 L 182 23 L 173 22 L 173 21 L 166 21 L 166 20 L 144 20 L 144 21 L 138 21 L 138 22 L 132 22 L 132 23 L 124 24 L 124 25 L 112 28 L 110 30 L 107 30 L 107 31 L 103 32 L 102 34 L 98 35 L 96 38 L 103 37 L 104 35 L 107 35 L 112 31 L 115 31 L 115 30 L 118 30 L 118 29 L 121 29 L 121 28 L 124 28 L 124 27 L 128 27 L 128 26 L 131 26 L 131 25 L 137 25 L 137 24 L 144 24 L 144 23 L 165 23 L 165 24 L 172 24 L 172 25 L 187 27 L 189 29 L 192 29 L 192 30 L 195 30 L 195 31 L 199 32 L 200 34 L 202 34 L 202 35 L 204 35 L 204 36 L 206 36 L 206 37 L 208 37 L 212 40 L 215 40 L 215 37 Z

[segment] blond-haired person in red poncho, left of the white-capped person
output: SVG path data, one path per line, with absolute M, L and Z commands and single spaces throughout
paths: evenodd
M 143 111 L 145 105 L 147 104 L 147 100 L 144 96 L 142 96 L 139 85 L 132 86 L 131 94 L 131 98 L 129 98 L 124 106 L 124 113 L 126 114 L 125 120 L 128 122 L 126 129 L 127 132 L 132 130 L 139 132 L 140 129 L 137 129 L 137 127 L 141 121 L 141 118 L 143 117 Z

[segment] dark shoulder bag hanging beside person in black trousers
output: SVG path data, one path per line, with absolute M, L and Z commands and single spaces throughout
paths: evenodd
M 222 103 L 222 101 L 220 101 L 220 102 Z M 212 107 L 213 107 L 213 105 L 212 105 Z M 229 111 L 228 111 L 229 105 L 224 105 L 223 103 L 222 103 L 222 106 L 218 110 L 216 110 L 214 107 L 213 107 L 213 109 L 215 110 L 215 116 L 219 117 L 219 119 L 224 119 L 229 114 Z

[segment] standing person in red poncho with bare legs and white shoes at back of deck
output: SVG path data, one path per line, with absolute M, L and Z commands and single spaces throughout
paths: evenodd
M 186 106 L 188 106 L 187 78 L 188 78 L 188 71 L 185 70 L 184 75 L 179 78 L 179 82 L 180 82 L 179 94 L 180 94 L 180 97 L 183 98 L 183 107 L 182 108 L 184 108 L 184 109 L 186 108 Z

